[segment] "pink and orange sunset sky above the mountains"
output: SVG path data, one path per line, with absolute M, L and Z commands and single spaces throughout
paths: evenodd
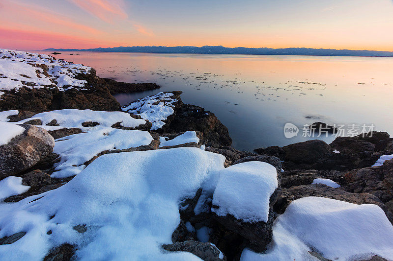
M 393 0 L 0 0 L 0 48 L 393 51 Z

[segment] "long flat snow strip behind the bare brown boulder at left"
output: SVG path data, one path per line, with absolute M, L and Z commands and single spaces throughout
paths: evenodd
M 42 127 L 47 130 L 61 129 L 61 128 L 79 128 L 82 131 L 90 131 L 101 127 L 111 127 L 117 122 L 121 122 L 123 127 L 135 128 L 139 125 L 145 124 L 143 119 L 134 119 L 125 112 L 105 112 L 105 111 L 92 111 L 92 110 L 78 110 L 78 109 L 63 109 L 50 112 L 43 112 L 34 115 L 29 119 L 18 121 L 24 123 L 31 119 L 41 119 Z M 53 128 L 54 126 L 45 126 L 53 119 L 56 119 L 60 127 Z M 82 123 L 86 121 L 98 122 L 99 125 L 95 127 L 83 127 Z

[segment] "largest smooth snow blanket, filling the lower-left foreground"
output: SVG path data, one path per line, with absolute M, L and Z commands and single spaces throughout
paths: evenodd
M 161 245 L 172 243 L 181 199 L 219 175 L 224 162 L 223 155 L 199 148 L 100 156 L 56 190 L 0 204 L 0 238 L 27 233 L 1 245 L 0 256 L 42 260 L 50 249 L 71 242 L 76 260 L 200 261 L 191 253 L 163 251 Z M 84 224 L 84 233 L 72 228 Z

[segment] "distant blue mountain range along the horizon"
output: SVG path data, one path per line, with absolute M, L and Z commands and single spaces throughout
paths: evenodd
M 268 54 L 268 55 L 319 55 L 319 56 L 393 56 L 393 51 L 337 50 L 314 48 L 247 48 L 223 46 L 133 46 L 91 49 L 56 49 L 45 51 L 102 51 L 102 52 L 149 52 L 149 53 L 199 53 L 199 54 Z

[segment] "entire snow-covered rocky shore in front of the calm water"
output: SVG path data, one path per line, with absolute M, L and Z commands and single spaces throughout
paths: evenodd
M 53 57 L 2 52 L 55 81 Z M 388 133 L 239 151 L 181 92 L 121 107 L 112 94 L 159 86 L 68 76 L 83 82 L 0 88 L 7 260 L 392 260 Z

